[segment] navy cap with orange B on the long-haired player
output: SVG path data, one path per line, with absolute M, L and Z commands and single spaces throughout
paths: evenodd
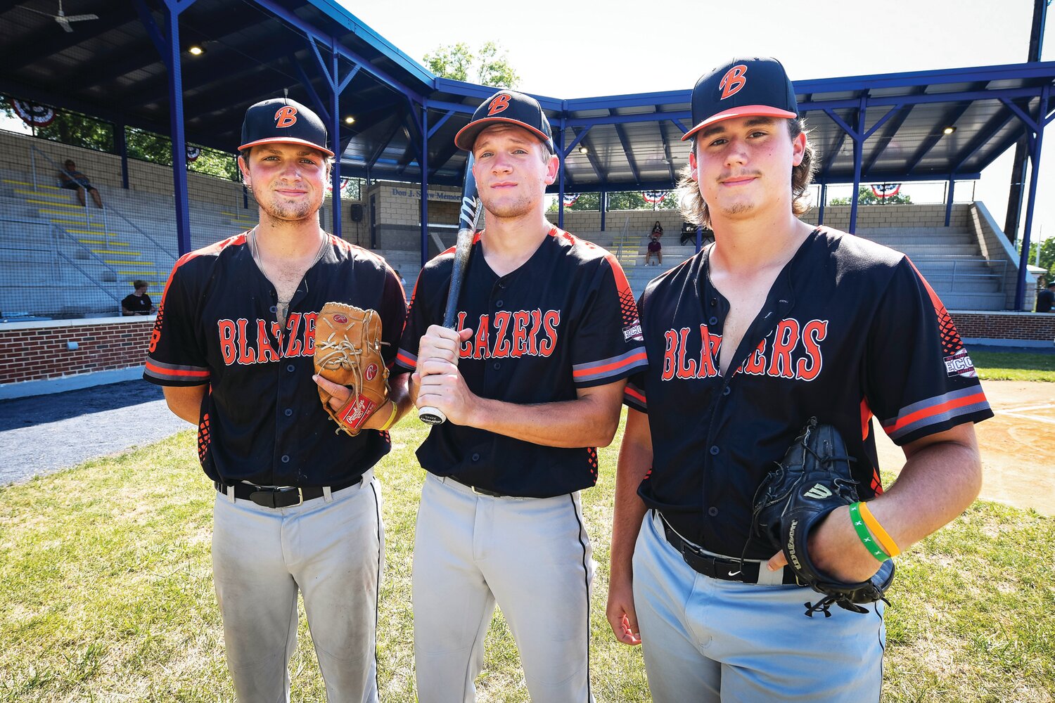
M 705 73 L 692 89 L 692 124 L 682 141 L 733 117 L 799 117 L 784 66 L 766 57 L 736 58 Z

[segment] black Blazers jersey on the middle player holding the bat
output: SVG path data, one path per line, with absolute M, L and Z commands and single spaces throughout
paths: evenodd
M 480 235 L 458 299 L 457 328 L 473 329 L 458 369 L 481 397 L 517 404 L 574 401 L 576 389 L 626 378 L 646 364 L 637 306 L 603 249 L 553 228 L 516 271 L 497 275 Z M 429 261 L 410 296 L 397 370 L 414 370 L 429 325 L 443 319 L 454 249 Z M 475 427 L 433 427 L 418 449 L 427 471 L 504 495 L 552 497 L 593 486 L 594 447 L 544 447 Z

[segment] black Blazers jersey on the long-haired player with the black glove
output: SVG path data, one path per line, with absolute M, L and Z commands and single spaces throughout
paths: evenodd
M 710 282 L 710 250 L 646 288 L 649 366 L 625 394 L 652 433 L 639 494 L 686 539 L 771 556 L 748 542 L 754 492 L 811 416 L 842 433 L 867 500 L 883 490 L 872 416 L 903 445 L 993 415 L 953 320 L 912 261 L 827 229 L 776 277 L 723 376 L 729 302 Z

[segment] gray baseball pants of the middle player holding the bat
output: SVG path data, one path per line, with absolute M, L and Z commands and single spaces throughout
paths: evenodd
M 421 703 L 472 703 L 495 603 L 537 703 L 590 703 L 595 563 L 578 493 L 492 497 L 429 473 L 414 545 Z

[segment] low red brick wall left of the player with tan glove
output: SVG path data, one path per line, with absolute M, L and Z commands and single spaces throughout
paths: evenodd
M 0 384 L 139 366 L 153 329 L 143 317 L 0 325 Z M 70 351 L 70 341 L 79 348 Z

